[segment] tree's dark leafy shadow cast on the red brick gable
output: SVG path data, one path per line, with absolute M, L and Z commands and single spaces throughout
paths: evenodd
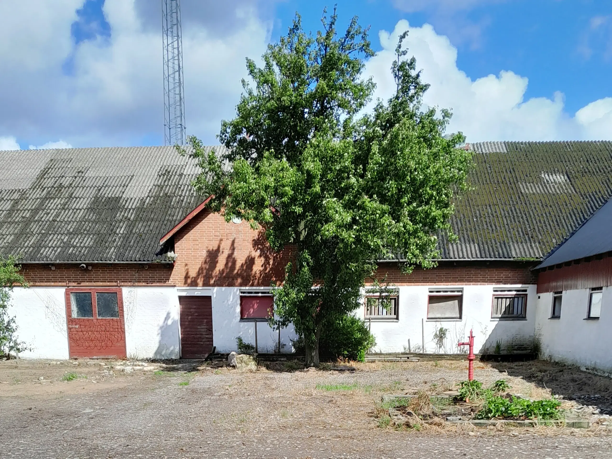
M 185 269 L 184 283 L 188 286 L 268 286 L 274 280 L 285 277 L 285 266 L 291 255 L 285 249 L 275 253 L 266 241 L 264 231 L 258 232 L 252 242 L 252 250 L 239 262 L 237 255 L 244 249 L 236 247 L 231 241 L 228 249 L 223 249 L 222 241 L 216 248 L 206 250 L 206 255 L 198 271 L 192 273 Z

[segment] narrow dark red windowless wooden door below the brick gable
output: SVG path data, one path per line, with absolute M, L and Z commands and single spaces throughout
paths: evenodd
M 209 296 L 179 296 L 181 357 L 205 359 L 212 352 L 212 302 Z

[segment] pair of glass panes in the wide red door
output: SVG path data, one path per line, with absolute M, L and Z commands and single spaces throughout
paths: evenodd
M 119 319 L 119 289 L 67 289 L 73 319 Z

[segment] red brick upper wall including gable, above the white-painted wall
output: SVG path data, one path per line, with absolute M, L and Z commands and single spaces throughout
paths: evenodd
M 263 230 L 246 222 L 226 223 L 209 211 L 196 215 L 174 236 L 172 264 L 26 264 L 23 274 L 31 285 L 56 286 L 269 286 L 282 281 L 291 250 L 274 253 Z M 441 262 L 434 269 L 402 274 L 397 263 L 384 263 L 378 277 L 395 285 L 535 284 L 532 264 L 526 262 Z

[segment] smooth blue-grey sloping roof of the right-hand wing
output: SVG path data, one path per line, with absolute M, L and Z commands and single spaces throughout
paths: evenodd
M 563 244 L 550 253 L 540 267 L 553 266 L 566 261 L 599 255 L 612 251 L 612 200 L 586 220 Z

